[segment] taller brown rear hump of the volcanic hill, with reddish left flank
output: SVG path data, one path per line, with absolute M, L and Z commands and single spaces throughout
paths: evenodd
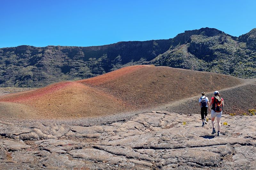
M 124 67 L 77 82 L 121 98 L 134 107 L 156 106 L 244 83 L 243 79 L 223 74 L 150 66 Z

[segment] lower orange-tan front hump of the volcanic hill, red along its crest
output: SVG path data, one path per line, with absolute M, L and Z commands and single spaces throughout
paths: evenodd
M 28 112 L 29 106 L 33 114 L 30 113 L 28 118 L 93 117 L 122 112 L 128 107 L 120 99 L 77 82 L 60 82 L 37 90 L 9 94 L 1 97 L 0 101 L 15 103 L 16 107 L 17 104 L 26 106 L 23 113 Z M 16 116 L 20 117 L 20 113 Z

